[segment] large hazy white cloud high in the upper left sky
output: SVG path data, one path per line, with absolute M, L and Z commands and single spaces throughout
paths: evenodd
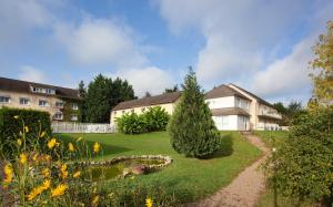
M 140 66 L 147 62 L 130 30 L 112 20 L 88 18 L 79 25 L 59 23 L 57 39 L 79 64 Z

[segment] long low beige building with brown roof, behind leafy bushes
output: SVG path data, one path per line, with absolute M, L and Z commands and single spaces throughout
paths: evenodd
M 111 124 L 114 124 L 117 117 L 120 117 L 125 113 L 134 112 L 137 114 L 141 114 L 149 107 L 153 107 L 153 106 L 161 106 L 169 114 L 172 114 L 180 95 L 181 92 L 174 92 L 174 93 L 154 95 L 151 97 L 143 97 L 139 100 L 121 102 L 112 108 L 110 122 Z

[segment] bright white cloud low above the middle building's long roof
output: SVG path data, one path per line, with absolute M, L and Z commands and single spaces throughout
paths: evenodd
M 120 76 L 128 80 L 133 85 L 134 93 L 139 97 L 143 96 L 147 91 L 153 95 L 161 94 L 164 89 L 174 85 L 170 73 L 155 66 L 122 70 L 111 76 Z

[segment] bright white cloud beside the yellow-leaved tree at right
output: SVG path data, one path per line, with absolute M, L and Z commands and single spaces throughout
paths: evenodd
M 309 93 L 309 62 L 313 59 L 311 46 L 315 39 L 309 38 L 296 44 L 283 59 L 274 61 L 266 70 L 254 74 L 252 90 L 263 96 L 285 96 Z

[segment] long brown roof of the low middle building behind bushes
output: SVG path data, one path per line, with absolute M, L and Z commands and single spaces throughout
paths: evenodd
M 139 100 L 131 100 L 121 102 L 115 105 L 112 111 L 118 110 L 125 110 L 131 107 L 139 107 L 139 106 L 150 106 L 150 105 L 159 105 L 159 104 L 167 104 L 175 102 L 181 95 L 181 92 L 173 92 L 173 93 L 165 93 L 161 95 L 154 95 L 150 97 L 142 97 Z

